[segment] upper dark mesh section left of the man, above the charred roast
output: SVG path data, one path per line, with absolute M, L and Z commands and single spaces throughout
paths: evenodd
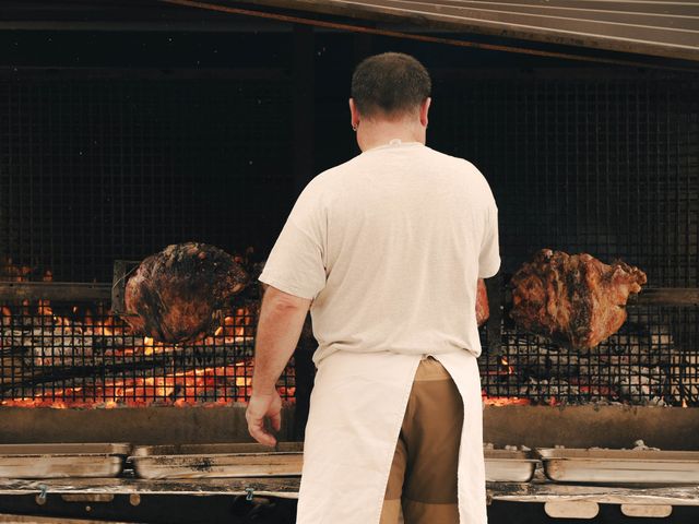
M 175 242 L 264 251 L 293 191 L 287 79 L 99 75 L 0 79 L 0 257 L 108 282 Z

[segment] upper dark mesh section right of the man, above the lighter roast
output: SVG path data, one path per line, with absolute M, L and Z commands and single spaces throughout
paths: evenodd
M 623 258 L 651 286 L 699 286 L 699 78 L 494 74 L 435 94 L 430 141 L 493 187 L 502 271 L 548 247 Z

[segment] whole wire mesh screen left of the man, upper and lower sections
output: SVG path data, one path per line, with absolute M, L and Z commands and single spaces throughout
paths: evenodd
M 52 71 L 0 79 L 0 279 L 110 282 L 117 259 L 197 240 L 262 253 L 293 191 L 279 70 Z M 274 155 L 269 151 L 273 150 Z M 245 401 L 254 311 L 199 344 L 129 334 L 108 305 L 7 303 L 4 405 Z M 282 376 L 294 397 L 294 367 Z

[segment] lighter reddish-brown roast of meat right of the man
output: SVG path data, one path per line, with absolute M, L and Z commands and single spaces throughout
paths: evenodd
M 525 331 L 579 349 L 592 348 L 621 327 L 629 294 L 645 273 L 615 261 L 542 249 L 512 276 L 510 315 Z

